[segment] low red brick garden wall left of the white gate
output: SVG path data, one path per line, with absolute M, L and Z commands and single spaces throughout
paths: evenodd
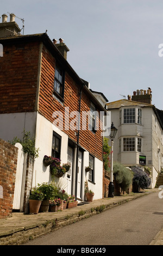
M 18 149 L 0 139 L 0 218 L 9 217 L 14 200 Z

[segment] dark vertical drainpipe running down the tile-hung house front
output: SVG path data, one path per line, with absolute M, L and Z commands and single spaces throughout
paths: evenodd
M 80 93 L 79 93 L 79 109 L 78 109 L 79 117 L 80 117 L 80 111 L 81 111 L 81 99 L 82 99 L 83 87 L 84 87 L 84 84 L 80 88 Z M 75 197 L 76 197 L 76 200 L 77 200 L 77 188 L 78 188 L 78 155 L 79 155 L 79 136 L 80 136 L 80 131 L 79 131 L 80 118 L 79 117 L 78 117 L 78 133 L 77 133 L 77 153 L 76 153 L 76 184 L 75 184 Z

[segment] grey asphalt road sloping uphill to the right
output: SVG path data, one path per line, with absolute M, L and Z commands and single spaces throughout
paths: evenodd
M 163 225 L 163 199 L 151 193 L 24 245 L 149 245 Z

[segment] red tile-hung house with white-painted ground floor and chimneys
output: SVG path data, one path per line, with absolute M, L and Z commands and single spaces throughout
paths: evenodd
M 67 62 L 69 49 L 62 39 L 57 44 L 46 33 L 21 35 L 14 15 L 10 16 L 8 22 L 7 15 L 3 15 L 0 24 L 0 138 L 22 138 L 23 130 L 35 136 L 39 157 L 34 161 L 32 186 L 51 182 L 43 157 L 53 156 L 61 163 L 71 163 L 69 172 L 58 178 L 68 194 L 84 200 L 88 180 L 94 199 L 102 198 L 102 127 L 96 129 L 93 112 L 105 115 L 106 109 L 89 89 L 89 83 Z M 87 166 L 91 167 L 88 173 Z

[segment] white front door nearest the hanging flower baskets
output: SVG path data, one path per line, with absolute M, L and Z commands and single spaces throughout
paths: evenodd
M 72 168 L 73 168 L 73 149 L 67 149 L 67 162 L 71 164 L 70 170 L 67 172 L 67 193 L 71 195 L 72 186 Z

